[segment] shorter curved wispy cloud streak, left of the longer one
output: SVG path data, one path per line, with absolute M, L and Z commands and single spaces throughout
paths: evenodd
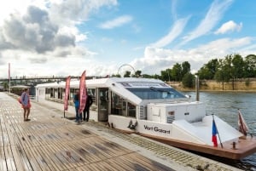
M 175 21 L 174 25 L 172 26 L 172 30 L 165 37 L 160 38 L 159 41 L 151 44 L 150 46 L 161 48 L 165 47 L 169 43 L 172 43 L 172 41 L 182 33 L 188 20 L 189 17 Z

